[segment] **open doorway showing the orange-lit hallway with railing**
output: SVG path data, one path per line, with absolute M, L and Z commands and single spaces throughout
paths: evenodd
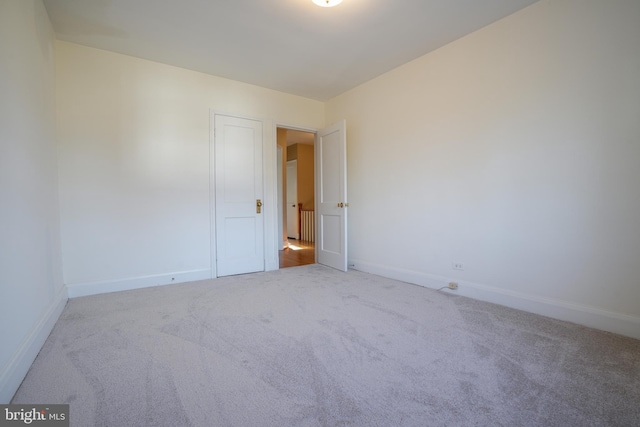
M 277 128 L 278 221 L 282 230 L 279 246 L 280 268 L 314 264 L 315 234 L 315 133 Z

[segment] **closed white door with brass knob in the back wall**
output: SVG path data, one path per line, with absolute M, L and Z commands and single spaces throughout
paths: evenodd
M 264 271 L 262 122 L 215 115 L 217 275 Z

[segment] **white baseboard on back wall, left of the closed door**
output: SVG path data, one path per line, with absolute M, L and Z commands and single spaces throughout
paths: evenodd
M 130 277 L 100 282 L 72 283 L 67 285 L 69 298 L 88 295 L 106 294 L 109 292 L 129 291 L 152 286 L 172 285 L 175 283 L 193 282 L 211 279 L 211 270 L 180 271 L 176 273 L 155 274 L 151 276 Z

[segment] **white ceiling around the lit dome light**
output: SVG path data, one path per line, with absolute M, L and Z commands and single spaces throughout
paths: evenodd
M 44 0 L 59 39 L 327 100 L 537 0 Z

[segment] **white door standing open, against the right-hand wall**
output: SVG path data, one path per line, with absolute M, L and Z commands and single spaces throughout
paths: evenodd
M 347 271 L 347 124 L 318 132 L 316 141 L 318 263 Z

